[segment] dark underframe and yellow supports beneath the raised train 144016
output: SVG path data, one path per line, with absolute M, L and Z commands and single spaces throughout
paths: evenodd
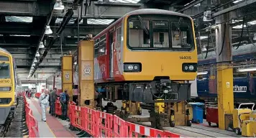
M 125 81 L 122 83 L 98 83 L 96 90 L 101 98 L 115 102 L 122 100 L 123 119 L 137 122 L 150 121 L 151 126 L 162 129 L 164 126 L 191 126 L 191 83 L 168 79 L 152 81 Z M 148 118 L 129 118 L 141 115 L 141 103 L 150 105 Z M 100 106 L 100 105 L 98 105 Z

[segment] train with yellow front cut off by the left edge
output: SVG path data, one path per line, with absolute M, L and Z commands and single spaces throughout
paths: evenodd
M 22 93 L 22 84 L 14 57 L 0 48 L 0 132 L 4 132 L 2 130 L 9 126 L 14 117 L 19 93 Z

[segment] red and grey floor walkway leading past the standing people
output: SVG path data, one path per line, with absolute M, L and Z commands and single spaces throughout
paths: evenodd
M 42 111 L 37 98 L 27 99 L 35 119 L 38 121 L 38 132 L 40 137 L 76 137 L 76 132 L 68 129 L 69 122 L 63 121 L 49 114 L 46 111 L 46 122 L 42 121 Z

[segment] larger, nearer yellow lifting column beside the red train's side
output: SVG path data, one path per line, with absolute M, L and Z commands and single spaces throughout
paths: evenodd
M 94 70 L 93 70 L 93 40 L 83 40 L 78 43 L 78 88 L 80 91 L 80 106 L 94 109 Z

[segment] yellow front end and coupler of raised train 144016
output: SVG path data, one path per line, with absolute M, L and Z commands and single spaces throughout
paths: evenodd
M 161 12 L 124 18 L 122 75 L 130 82 L 127 97 L 131 101 L 177 102 L 191 97 L 188 80 L 196 78 L 198 61 L 193 20 Z

